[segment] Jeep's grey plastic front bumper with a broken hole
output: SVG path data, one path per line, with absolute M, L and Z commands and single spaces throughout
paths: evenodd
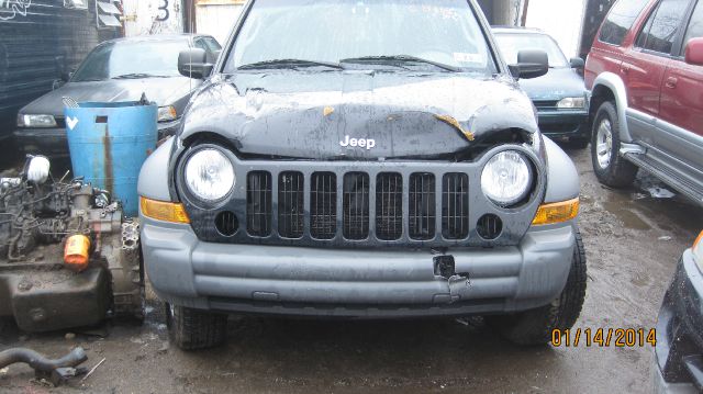
M 516 247 L 455 248 L 436 273 L 422 249 L 338 249 L 200 241 L 189 225 L 141 216 L 145 268 L 165 301 L 223 312 L 357 318 L 510 313 L 566 285 L 573 224 L 533 228 Z

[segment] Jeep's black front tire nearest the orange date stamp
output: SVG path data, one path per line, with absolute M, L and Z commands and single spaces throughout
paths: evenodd
M 514 344 L 524 346 L 549 344 L 555 329 L 563 331 L 571 328 L 579 318 L 585 299 L 585 249 L 581 234 L 577 230 L 569 278 L 557 299 L 536 309 L 504 316 L 487 316 L 486 320 Z

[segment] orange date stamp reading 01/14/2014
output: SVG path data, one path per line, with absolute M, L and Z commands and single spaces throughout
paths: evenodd
M 556 348 L 600 347 L 643 348 L 657 345 L 655 328 L 572 328 L 551 331 Z

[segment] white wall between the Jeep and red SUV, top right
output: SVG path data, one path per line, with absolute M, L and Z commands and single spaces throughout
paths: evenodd
M 577 57 L 585 0 L 529 0 L 527 27 L 537 27 L 551 35 L 567 57 Z

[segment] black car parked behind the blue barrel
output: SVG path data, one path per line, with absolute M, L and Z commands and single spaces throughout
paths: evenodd
M 207 35 L 153 35 L 119 38 L 98 45 L 66 82 L 34 100 L 18 114 L 14 133 L 27 154 L 68 154 L 63 97 L 78 102 L 136 101 L 142 94 L 159 105 L 159 136 L 171 135 L 192 91 L 202 81 L 178 72 L 178 54 L 201 48 L 214 63 L 220 44 Z

